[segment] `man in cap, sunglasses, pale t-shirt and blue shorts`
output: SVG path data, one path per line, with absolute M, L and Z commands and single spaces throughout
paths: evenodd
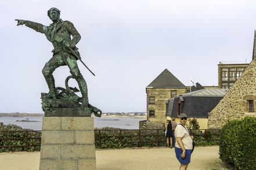
M 193 149 L 193 136 L 189 135 L 188 129 L 185 127 L 187 122 L 187 115 L 181 113 L 179 116 L 179 123 L 175 129 L 175 153 L 176 158 L 181 163 L 180 170 L 186 170 L 190 163 L 190 157 Z

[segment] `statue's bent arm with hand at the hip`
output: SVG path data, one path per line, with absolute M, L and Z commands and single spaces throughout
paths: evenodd
M 73 36 L 72 40 L 66 40 L 70 47 L 74 47 L 81 39 L 81 35 L 78 33 L 77 29 L 75 29 L 74 25 L 70 23 L 70 21 L 64 21 L 64 27 L 67 31 Z

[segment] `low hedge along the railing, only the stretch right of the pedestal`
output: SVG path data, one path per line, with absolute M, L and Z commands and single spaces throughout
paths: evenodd
M 122 148 L 122 147 L 139 147 L 139 130 L 121 130 L 120 128 L 104 127 L 95 128 L 95 147 L 96 148 Z M 99 143 L 99 131 L 101 136 L 101 145 Z M 111 130 L 111 131 L 109 131 Z M 121 130 L 121 142 L 120 142 L 120 130 Z M 167 146 L 167 139 L 164 135 L 164 130 L 158 130 L 160 136 L 158 136 L 159 144 L 157 143 L 157 130 L 141 130 L 140 140 L 142 147 L 154 147 L 154 146 Z M 204 131 L 192 130 L 194 135 L 194 142 L 196 146 L 205 145 L 218 145 L 219 143 L 219 131 L 218 130 L 207 130 L 206 141 Z M 144 136 L 145 135 L 145 136 Z M 148 136 L 146 136 L 148 135 Z M 111 137 L 106 137 L 111 136 Z M 153 141 L 153 142 L 150 142 Z M 132 142 L 132 143 L 125 143 Z

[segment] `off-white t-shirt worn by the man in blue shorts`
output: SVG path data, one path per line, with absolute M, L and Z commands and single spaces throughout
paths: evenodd
M 185 149 L 193 149 L 193 140 L 187 131 L 188 129 L 186 128 L 185 130 L 185 128 L 181 125 L 181 123 L 178 123 L 175 128 L 175 138 L 182 138 L 181 141 Z M 175 147 L 181 148 L 177 140 L 175 142 Z

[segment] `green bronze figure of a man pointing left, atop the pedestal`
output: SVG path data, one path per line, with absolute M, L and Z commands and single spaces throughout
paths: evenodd
M 53 57 L 46 62 L 42 73 L 45 77 L 46 83 L 49 87 L 49 93 L 46 98 L 56 99 L 57 91 L 55 87 L 55 80 L 53 78 L 53 71 L 62 65 L 67 65 L 70 69 L 71 75 L 77 81 L 82 94 L 82 106 L 88 107 L 88 93 L 87 86 L 84 77 L 80 73 L 77 65 L 77 58 L 74 56 L 69 47 L 74 50 L 78 57 L 80 54 L 78 48 L 75 45 L 81 39 L 80 34 L 74 25 L 70 21 L 63 21 L 60 19 L 60 10 L 57 8 L 51 8 L 48 10 L 48 16 L 53 21 L 49 26 L 45 26 L 39 23 L 26 20 L 16 20 L 17 25 L 25 24 L 27 27 L 34 29 L 37 32 L 41 32 L 46 35 L 46 38 L 52 42 L 54 49 Z M 72 39 L 70 37 L 72 35 Z

